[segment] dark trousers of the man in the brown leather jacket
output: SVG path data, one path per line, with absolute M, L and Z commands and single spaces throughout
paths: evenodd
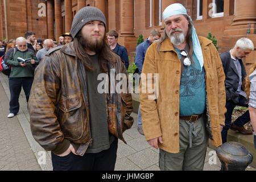
M 96 154 L 85 153 L 84 156 L 70 152 L 67 156 L 60 157 L 51 152 L 53 171 L 114 171 L 117 145 L 116 138 L 108 150 Z

